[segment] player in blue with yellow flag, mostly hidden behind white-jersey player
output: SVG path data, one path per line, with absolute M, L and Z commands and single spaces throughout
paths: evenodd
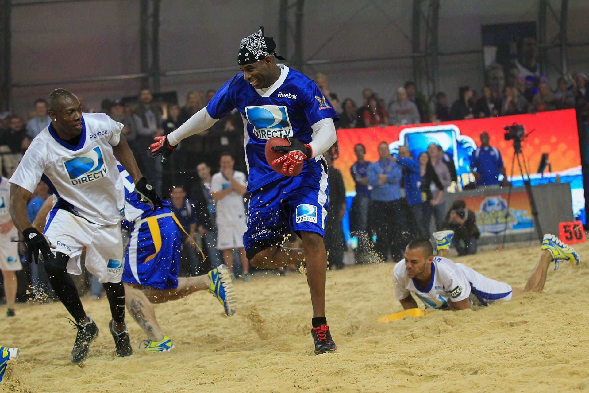
M 130 232 L 125 247 L 123 284 L 125 304 L 135 322 L 147 335 L 140 349 L 148 352 L 164 352 L 174 348 L 171 339 L 164 335 L 155 319 L 151 303 L 185 298 L 199 290 L 207 290 L 215 296 L 227 315 L 233 315 L 237 296 L 233 290 L 227 266 L 220 265 L 207 275 L 178 278 L 180 264 L 180 224 L 173 216 L 170 203 L 155 210 L 142 202 L 129 173 L 118 166 L 125 187 L 124 229 Z M 51 210 L 51 199 L 41 207 L 35 224 L 41 226 L 42 217 Z

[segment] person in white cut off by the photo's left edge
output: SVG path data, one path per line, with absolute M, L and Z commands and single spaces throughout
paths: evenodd
M 9 212 L 10 185 L 8 179 L 0 176 L 0 270 L 4 277 L 4 294 L 6 296 L 6 316 L 14 316 L 16 301 L 16 270 L 22 270 L 18 258 L 18 230 L 14 227 Z

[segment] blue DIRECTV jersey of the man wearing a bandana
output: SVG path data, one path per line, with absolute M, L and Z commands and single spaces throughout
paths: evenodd
M 239 73 L 224 84 L 207 104 L 207 111 L 219 119 L 237 109 L 244 119 L 246 161 L 249 169 L 247 191 L 259 189 L 284 176 L 266 161 L 264 149 L 272 137 L 294 137 L 303 143 L 312 140 L 311 126 L 324 118 L 339 120 L 332 104 L 315 82 L 299 71 L 279 65 L 282 73 L 264 93 L 256 90 Z M 320 158 L 307 160 L 299 176 L 321 170 Z

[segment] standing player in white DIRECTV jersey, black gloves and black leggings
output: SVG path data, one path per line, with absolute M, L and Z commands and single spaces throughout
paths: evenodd
M 86 247 L 85 267 L 97 276 L 107 292 L 112 320 L 109 324 L 117 356 L 131 355 L 125 324 L 123 242 L 120 219 L 124 214 L 124 187 L 117 159 L 127 168 L 141 196 L 154 207 L 161 200 L 141 175 L 121 136 L 123 124 L 105 114 L 82 114 L 80 101 L 70 91 L 49 94 L 51 124 L 31 142 L 9 180 L 10 213 L 27 245 L 28 260 L 44 260 L 49 282 L 70 312 L 77 327 L 72 362 L 83 361 L 98 326 L 86 315 L 71 274 L 81 273 L 80 255 Z M 116 157 L 116 158 L 115 158 Z M 56 202 L 48 214 L 44 233 L 32 227 L 27 200 L 45 181 Z M 49 245 L 54 247 L 51 250 Z

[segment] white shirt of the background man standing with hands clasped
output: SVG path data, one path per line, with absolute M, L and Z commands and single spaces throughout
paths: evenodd
M 233 178 L 239 184 L 246 185 L 246 174 L 240 171 L 233 171 Z M 223 176 L 222 172 L 215 173 L 211 178 L 211 192 L 221 191 L 231 186 L 231 181 Z M 245 207 L 243 205 L 243 195 L 233 190 L 223 199 L 216 202 L 217 223 L 226 225 L 234 223 L 237 220 L 245 220 Z

